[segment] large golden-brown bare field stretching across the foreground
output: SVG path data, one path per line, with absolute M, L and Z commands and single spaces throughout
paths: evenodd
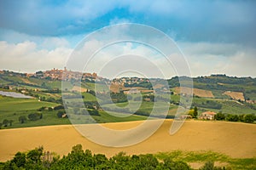
M 124 130 L 136 127 L 140 123 L 142 122 L 117 122 L 105 123 L 103 126 Z M 113 156 L 120 151 L 132 155 L 172 150 L 212 150 L 235 158 L 256 156 L 255 124 L 187 121 L 177 133 L 170 135 L 171 125 L 172 120 L 166 120 L 150 138 L 142 143 L 122 148 L 95 144 L 85 139 L 72 125 L 2 129 L 0 161 L 11 159 L 17 151 L 32 150 L 40 145 L 43 145 L 45 150 L 54 151 L 61 156 L 67 155 L 75 144 L 82 144 L 84 150 L 107 156 Z

